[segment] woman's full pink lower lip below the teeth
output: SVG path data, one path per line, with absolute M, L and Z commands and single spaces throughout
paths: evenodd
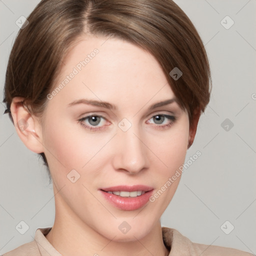
M 121 210 L 136 210 L 141 208 L 148 202 L 149 197 L 153 192 L 153 189 L 136 197 L 130 197 L 130 196 L 125 197 L 125 196 L 110 194 L 103 190 L 99 190 L 99 191 L 102 193 L 105 199 L 108 200 L 108 202 L 110 202 L 116 208 L 119 208 Z

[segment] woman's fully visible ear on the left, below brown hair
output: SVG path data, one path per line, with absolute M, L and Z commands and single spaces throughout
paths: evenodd
M 23 97 L 14 97 L 10 104 L 10 111 L 16 132 L 25 146 L 35 153 L 44 151 L 41 141 L 41 125 L 23 105 Z

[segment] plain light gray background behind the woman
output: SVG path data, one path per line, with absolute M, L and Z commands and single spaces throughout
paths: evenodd
M 18 32 L 15 21 L 28 16 L 38 0 L 0 0 L 0 98 L 8 55 Z M 197 28 L 208 53 L 212 94 L 200 118 L 187 168 L 161 218 L 193 242 L 256 253 L 256 0 L 175 0 Z M 226 16 L 234 24 L 226 29 Z M 230 20 L 225 21 L 226 25 Z M 4 111 L 0 103 L 0 112 Z M 226 131 L 221 123 L 234 124 Z M 223 125 L 224 126 L 224 125 Z M 52 184 L 37 154 L 29 151 L 7 115 L 0 114 L 0 254 L 33 240 L 38 227 L 52 226 Z M 23 235 L 15 226 L 25 221 Z M 228 220 L 234 229 L 225 234 Z M 230 230 L 230 224 L 225 226 Z

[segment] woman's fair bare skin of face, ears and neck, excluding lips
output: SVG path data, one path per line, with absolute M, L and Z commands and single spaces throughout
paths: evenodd
M 14 97 L 11 103 L 14 123 L 23 118 L 28 124 L 25 130 L 15 125 L 20 139 L 33 152 L 44 152 L 49 164 L 55 221 L 46 238 L 65 256 L 168 255 L 160 216 L 181 176 L 154 202 L 137 210 L 115 208 L 98 189 L 145 184 L 157 191 L 184 162 L 199 115 L 189 127 L 187 112 L 175 101 L 149 110 L 149 105 L 175 95 L 151 54 L 117 38 L 79 38 L 65 57 L 54 88 L 94 48 L 99 50 L 95 57 L 48 100 L 44 125 L 17 104 L 21 97 Z M 107 101 L 117 109 L 87 104 L 68 106 L 80 98 Z M 98 117 L 100 123 L 96 125 L 101 130 L 86 129 L 78 121 L 90 114 L 104 117 Z M 162 116 L 162 121 L 157 122 L 152 117 L 157 114 L 176 119 Z M 125 132 L 118 127 L 123 118 L 131 123 Z M 83 123 L 95 127 L 91 119 Z M 169 127 L 160 128 L 168 123 Z M 72 169 L 80 174 L 74 183 L 66 177 Z M 131 226 L 125 234 L 118 229 L 123 221 Z

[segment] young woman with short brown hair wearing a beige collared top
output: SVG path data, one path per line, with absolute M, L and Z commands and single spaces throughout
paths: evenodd
M 4 102 L 48 168 L 55 221 L 3 255 L 250 255 L 160 225 L 210 95 L 185 13 L 170 0 L 42 0 L 27 20 Z

